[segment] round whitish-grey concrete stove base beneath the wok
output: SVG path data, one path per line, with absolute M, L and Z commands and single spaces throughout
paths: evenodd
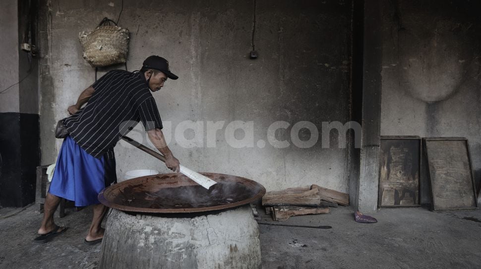
M 260 269 L 259 227 L 249 205 L 194 218 L 113 209 L 100 268 Z

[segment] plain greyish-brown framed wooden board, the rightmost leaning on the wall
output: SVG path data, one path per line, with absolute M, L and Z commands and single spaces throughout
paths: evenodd
M 465 137 L 423 138 L 429 166 L 431 210 L 475 210 L 478 207 L 471 153 Z

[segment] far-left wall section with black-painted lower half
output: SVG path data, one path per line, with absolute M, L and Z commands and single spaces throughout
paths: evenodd
M 35 44 L 36 1 L 0 3 L 0 206 L 35 200 L 40 163 L 38 61 L 20 44 Z

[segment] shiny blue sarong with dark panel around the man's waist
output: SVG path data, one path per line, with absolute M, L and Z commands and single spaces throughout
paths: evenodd
M 55 166 L 49 192 L 75 201 L 75 206 L 99 204 L 97 196 L 117 182 L 115 159 L 95 158 L 70 136 L 65 137 Z

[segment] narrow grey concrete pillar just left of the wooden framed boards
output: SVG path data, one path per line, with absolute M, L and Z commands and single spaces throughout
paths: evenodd
M 380 0 L 371 0 L 363 3 L 362 69 L 359 70 L 359 63 L 355 63 L 356 71 L 353 73 L 355 74 L 353 84 L 359 83 L 358 76 L 362 76 L 362 147 L 359 162 L 359 188 L 356 195 L 357 209 L 361 212 L 372 212 L 377 209 L 382 91 L 380 2 Z M 358 5 L 359 3 L 355 7 Z M 359 12 L 359 7 L 355 11 Z M 353 88 L 357 87 L 359 86 Z

